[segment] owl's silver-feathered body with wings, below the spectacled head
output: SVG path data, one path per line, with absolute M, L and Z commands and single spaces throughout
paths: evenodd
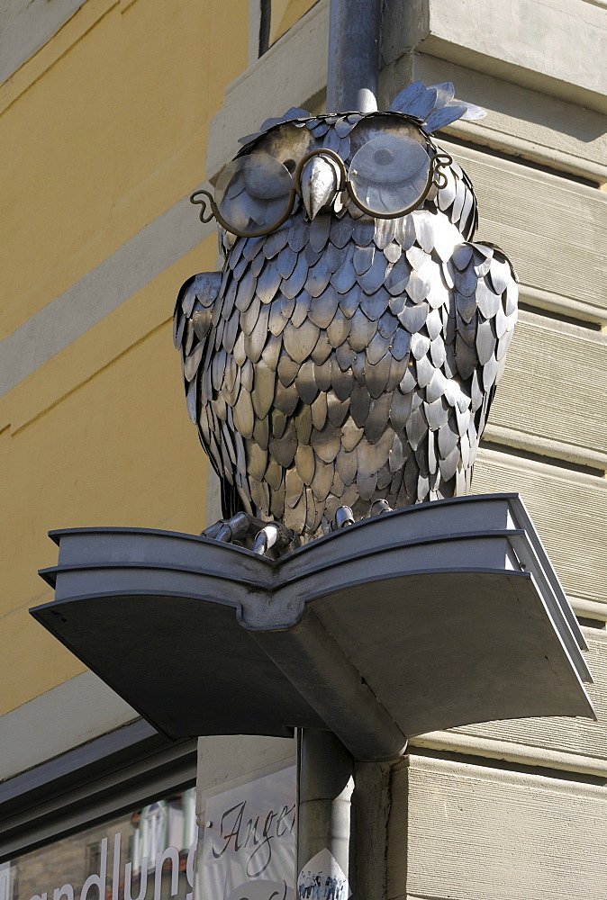
M 469 490 L 517 287 L 450 212 L 296 215 L 184 284 L 176 345 L 224 515 L 309 537 L 341 505 Z

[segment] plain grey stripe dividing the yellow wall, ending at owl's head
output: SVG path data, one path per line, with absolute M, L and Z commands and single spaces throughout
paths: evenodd
M 36 312 L 0 342 L 0 397 L 161 275 L 214 226 L 202 225 L 187 197 Z M 175 291 L 179 285 L 175 285 Z M 167 297 L 167 316 L 172 312 Z

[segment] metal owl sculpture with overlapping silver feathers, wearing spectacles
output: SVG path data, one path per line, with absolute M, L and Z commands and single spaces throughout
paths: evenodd
M 204 535 L 276 556 L 466 494 L 517 316 L 473 242 L 466 173 L 430 138 L 485 111 L 421 82 L 388 112 L 270 119 L 193 194 L 222 272 L 177 298 L 187 409 L 222 485 Z M 269 524 L 268 524 L 269 523 Z

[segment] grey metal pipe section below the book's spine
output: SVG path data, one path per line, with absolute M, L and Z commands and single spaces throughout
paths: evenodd
M 331 732 L 303 728 L 299 732 L 299 813 L 297 822 L 297 872 L 309 869 L 310 860 L 328 850 L 349 879 L 350 827 L 354 791 L 354 761 Z M 313 872 L 313 875 L 316 874 Z M 324 878 L 330 873 L 323 873 Z

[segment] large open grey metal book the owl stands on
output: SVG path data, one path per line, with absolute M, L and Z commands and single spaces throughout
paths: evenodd
M 432 482 L 442 431 L 392 477 Z M 294 513 L 317 515 L 299 478 Z M 173 737 L 327 727 L 358 758 L 382 760 L 406 734 L 593 716 L 584 638 L 516 495 L 385 512 L 276 561 L 145 529 L 53 537 L 59 564 L 41 574 L 55 599 L 33 615 Z

